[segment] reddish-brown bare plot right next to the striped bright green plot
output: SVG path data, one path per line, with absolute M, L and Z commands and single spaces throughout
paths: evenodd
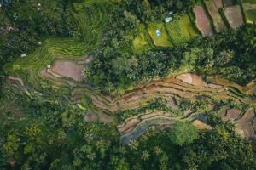
M 196 16 L 196 26 L 201 31 L 202 35 L 204 37 L 212 36 L 214 31 L 205 8 L 195 5 L 194 12 Z

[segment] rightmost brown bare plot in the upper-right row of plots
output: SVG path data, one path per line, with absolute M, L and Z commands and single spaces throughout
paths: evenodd
M 231 28 L 233 29 L 236 29 L 244 24 L 241 14 L 241 8 L 239 5 L 225 8 L 224 15 L 228 20 Z

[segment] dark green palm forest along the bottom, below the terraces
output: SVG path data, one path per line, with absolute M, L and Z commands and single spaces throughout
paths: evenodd
M 23 111 L 38 111 L 1 123 L 1 169 L 253 169 L 251 143 L 208 112 L 212 131 L 188 122 L 173 129 L 151 129 L 128 145 L 119 144 L 114 124 L 86 123 L 84 111 L 55 103 L 23 99 Z M 4 129 L 4 130 L 3 130 Z M 171 134 L 171 135 L 170 135 Z M 172 134 L 175 134 L 174 136 Z M 171 136 L 171 138 L 170 138 Z M 174 139 L 173 139 L 174 138 Z M 8 162 L 6 162 L 8 160 Z

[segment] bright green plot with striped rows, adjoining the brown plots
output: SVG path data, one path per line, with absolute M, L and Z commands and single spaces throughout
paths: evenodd
M 180 20 L 166 23 L 165 26 L 172 43 L 176 46 L 189 42 L 197 36 L 188 14 L 183 15 Z

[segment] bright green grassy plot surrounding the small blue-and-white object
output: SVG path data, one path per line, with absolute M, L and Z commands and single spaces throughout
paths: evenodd
M 157 37 L 155 34 L 155 30 L 161 31 L 161 36 Z M 154 45 L 156 47 L 165 47 L 170 48 L 173 47 L 170 37 L 167 34 L 166 27 L 164 23 L 150 23 L 148 25 L 148 34 L 152 38 Z

